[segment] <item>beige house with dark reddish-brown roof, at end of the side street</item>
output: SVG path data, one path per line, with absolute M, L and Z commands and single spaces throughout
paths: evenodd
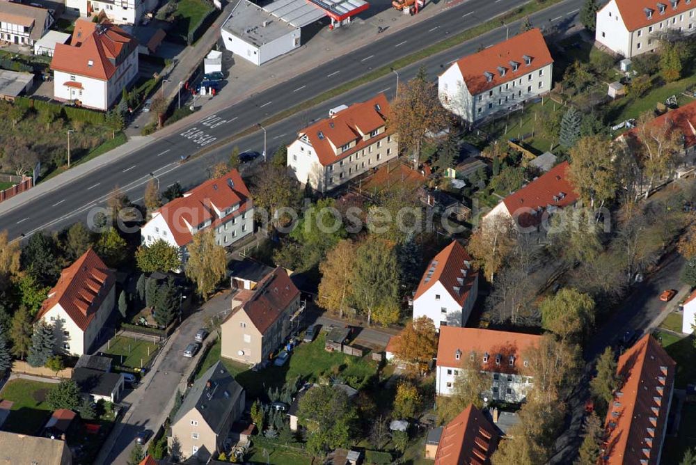
M 221 355 L 249 364 L 267 360 L 296 329 L 303 310 L 287 271 L 274 269 L 253 290 L 235 294 L 232 312 L 221 325 Z

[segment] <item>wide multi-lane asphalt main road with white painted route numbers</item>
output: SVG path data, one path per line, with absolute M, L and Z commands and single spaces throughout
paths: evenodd
M 324 90 L 335 88 L 372 68 L 425 47 L 432 43 L 434 38 L 458 33 L 522 3 L 525 1 L 466 1 L 274 88 L 250 95 L 244 102 L 232 105 L 217 115 L 205 120 L 196 120 L 195 115 L 191 116 L 191 124 L 180 133 L 157 139 L 130 155 L 3 213 L 0 215 L 0 230 L 8 230 L 11 238 L 22 234 L 29 237 L 38 230 L 58 230 L 75 221 L 85 221 L 90 212 L 94 214 L 95 207 L 104 206 L 109 192 L 117 185 L 130 200 L 142 198 L 145 184 L 150 180 L 149 173 L 157 176 L 162 190 L 174 182 L 180 182 L 184 189 L 193 187 L 208 178 L 208 169 L 216 161 L 227 159 L 233 145 L 237 145 L 243 151 L 260 152 L 263 148 L 263 134 L 258 131 L 185 164 L 177 163 L 180 155 L 195 154 L 202 145 L 237 134 L 246 127 L 306 101 Z M 567 29 L 576 22 L 578 8 L 582 3 L 583 0 L 565 0 L 557 3 L 532 15 L 532 24 L 553 24 Z M 519 22 L 509 24 L 509 29 L 513 33 L 519 31 Z M 463 42 L 441 54 L 426 58 L 420 63 L 402 68 L 398 70 L 400 79 L 403 81 L 413 77 L 421 64 L 425 65 L 429 76 L 435 79 L 452 61 L 475 52 L 480 45 L 489 46 L 504 40 L 506 32 L 505 27 L 496 29 L 475 40 Z M 390 74 L 267 127 L 269 154 L 281 143 L 294 140 L 296 131 L 310 120 L 328 116 L 329 109 L 339 104 L 367 100 L 381 91 L 391 97 L 395 87 L 395 75 Z

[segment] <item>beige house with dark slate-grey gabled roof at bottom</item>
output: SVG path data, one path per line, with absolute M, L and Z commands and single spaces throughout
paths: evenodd
M 180 460 L 206 462 L 223 448 L 232 423 L 244 412 L 244 388 L 221 362 L 208 368 L 189 390 L 172 420 L 169 447 L 178 441 Z

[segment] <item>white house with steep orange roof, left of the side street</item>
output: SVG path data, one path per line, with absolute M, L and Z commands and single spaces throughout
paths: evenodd
M 89 354 L 114 307 L 116 275 L 88 249 L 63 269 L 35 321 L 54 325 L 56 349 L 74 356 Z

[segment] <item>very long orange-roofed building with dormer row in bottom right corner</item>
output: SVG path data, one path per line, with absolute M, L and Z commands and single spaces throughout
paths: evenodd
M 607 413 L 601 464 L 661 463 L 676 372 L 677 364 L 649 334 L 619 357 L 624 381 Z

